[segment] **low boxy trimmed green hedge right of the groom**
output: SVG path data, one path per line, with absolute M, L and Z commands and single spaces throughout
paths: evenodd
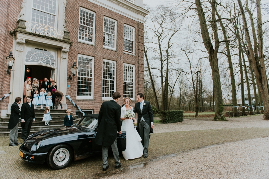
M 158 114 L 161 115 L 161 120 L 163 123 L 176 123 L 183 121 L 184 111 L 159 111 Z

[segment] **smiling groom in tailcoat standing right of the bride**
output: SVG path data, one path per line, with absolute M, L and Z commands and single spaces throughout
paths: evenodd
M 144 147 L 144 158 L 148 157 L 149 149 L 149 134 L 153 133 L 153 112 L 149 101 L 144 101 L 145 96 L 138 93 L 136 96 L 137 102 L 133 112 L 137 112 L 137 128 L 142 139 L 141 143 Z

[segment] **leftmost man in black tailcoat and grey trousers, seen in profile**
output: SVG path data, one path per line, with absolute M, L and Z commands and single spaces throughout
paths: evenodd
M 19 144 L 18 142 L 18 123 L 20 121 L 20 112 L 21 109 L 18 104 L 20 104 L 22 101 L 22 98 L 17 97 L 15 98 L 15 102 L 11 105 L 11 114 L 8 121 L 8 129 L 10 129 L 9 132 L 9 146 L 17 146 Z

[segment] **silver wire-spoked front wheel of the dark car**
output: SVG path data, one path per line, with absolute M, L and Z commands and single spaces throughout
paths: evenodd
M 55 146 L 48 152 L 47 163 L 53 169 L 63 169 L 71 162 L 72 149 L 64 144 Z

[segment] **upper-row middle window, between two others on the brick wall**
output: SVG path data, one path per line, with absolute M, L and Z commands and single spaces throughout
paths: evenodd
M 103 47 L 116 50 L 117 21 L 104 17 Z

